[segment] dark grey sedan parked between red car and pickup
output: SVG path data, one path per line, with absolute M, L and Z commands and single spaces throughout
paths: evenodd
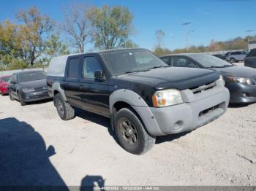
M 50 98 L 44 71 L 21 71 L 12 74 L 9 85 L 10 100 L 17 99 L 20 105 Z

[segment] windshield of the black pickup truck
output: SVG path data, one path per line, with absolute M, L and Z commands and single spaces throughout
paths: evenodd
M 118 50 L 113 52 L 102 52 L 100 55 L 112 75 L 168 67 L 166 63 L 148 50 Z

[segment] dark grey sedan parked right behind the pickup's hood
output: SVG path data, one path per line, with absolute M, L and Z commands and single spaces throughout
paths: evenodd
M 256 102 L 256 69 L 235 66 L 212 55 L 179 54 L 163 56 L 170 66 L 194 67 L 219 71 L 230 90 L 230 103 L 249 104 Z

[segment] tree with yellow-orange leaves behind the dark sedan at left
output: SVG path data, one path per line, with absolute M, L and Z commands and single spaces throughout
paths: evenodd
M 16 17 L 21 22 L 17 41 L 22 50 L 23 61 L 33 66 L 45 52 L 54 21 L 48 15 L 42 15 L 36 7 L 20 10 Z

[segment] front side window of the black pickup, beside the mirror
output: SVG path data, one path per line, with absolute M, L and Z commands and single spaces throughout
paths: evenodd
M 94 79 L 94 72 L 97 70 L 102 70 L 97 58 L 93 56 L 83 58 L 83 78 Z

